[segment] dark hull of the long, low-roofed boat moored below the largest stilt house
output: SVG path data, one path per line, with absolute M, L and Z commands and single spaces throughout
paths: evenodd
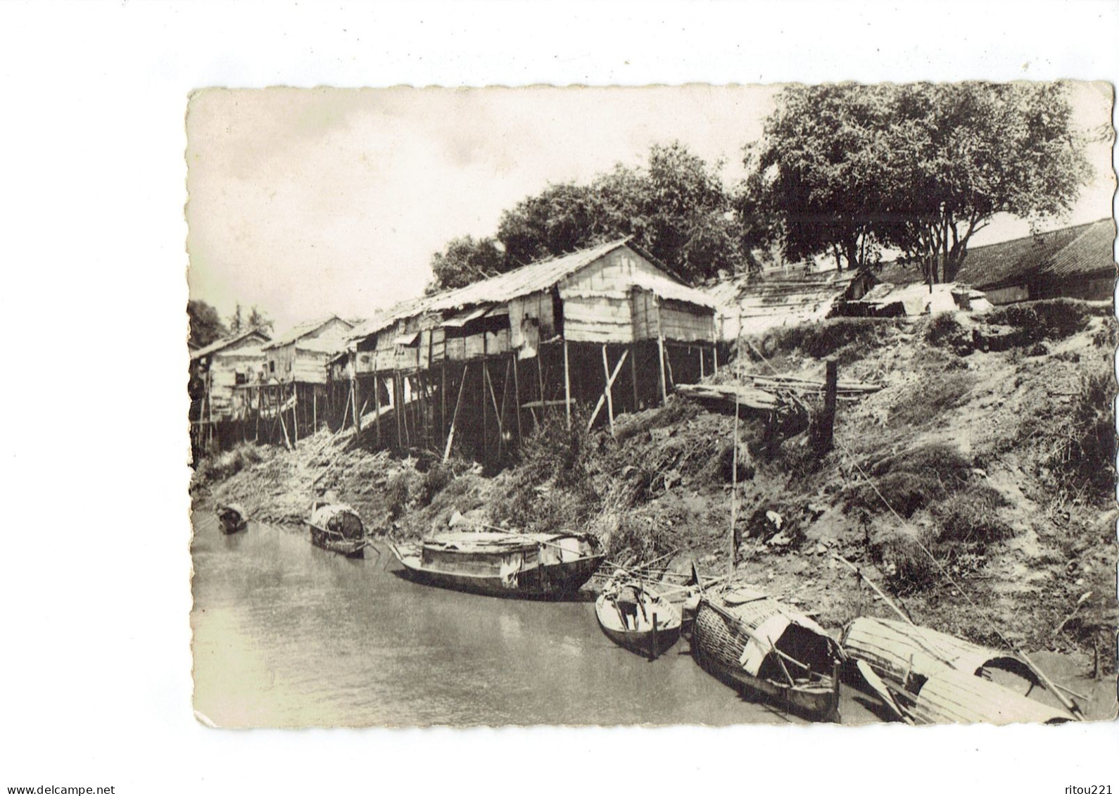
M 594 555 L 579 561 L 537 565 L 519 572 L 516 582 L 509 583 L 499 575 L 448 572 L 424 566 L 419 555 L 408 555 L 395 546 L 392 550 L 404 568 L 404 577 L 416 583 L 471 594 L 537 600 L 571 597 L 591 579 L 605 558 Z

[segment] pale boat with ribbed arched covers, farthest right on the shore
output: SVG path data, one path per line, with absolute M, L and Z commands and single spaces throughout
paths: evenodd
M 864 672 L 871 690 L 913 724 L 1053 724 L 1076 719 L 1064 708 L 1027 696 L 1045 684 L 1010 653 L 872 617 L 853 620 L 841 644 L 852 659 L 871 668 L 869 675 Z M 1015 682 L 1023 693 L 1009 687 Z

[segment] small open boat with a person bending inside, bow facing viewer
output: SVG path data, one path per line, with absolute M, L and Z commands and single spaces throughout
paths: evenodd
M 627 618 L 619 596 L 633 597 L 637 612 Z M 680 612 L 637 580 L 610 581 L 594 602 L 594 615 L 610 640 L 650 659 L 668 652 L 680 638 Z

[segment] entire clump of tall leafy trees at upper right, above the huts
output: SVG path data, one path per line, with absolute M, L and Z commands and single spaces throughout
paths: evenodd
M 1059 214 L 1089 176 L 1060 83 L 792 86 L 746 165 L 740 215 L 789 259 L 858 268 L 890 246 L 931 281 L 996 214 Z

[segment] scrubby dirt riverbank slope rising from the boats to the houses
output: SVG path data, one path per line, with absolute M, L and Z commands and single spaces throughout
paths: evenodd
M 1109 313 L 1036 302 L 987 318 L 838 319 L 740 341 L 712 381 L 821 378 L 822 357 L 834 356 L 840 380 L 883 390 L 841 402 L 822 457 L 802 429 L 774 440 L 764 418 L 743 415 L 739 575 L 826 627 L 890 616 L 838 553 L 919 624 L 996 645 L 998 628 L 1029 649 L 1098 649 L 1101 671 L 1112 671 Z M 1005 349 L 982 350 L 990 339 Z M 818 396 L 799 401 L 815 416 Z M 695 560 L 721 573 L 732 549 L 733 434 L 730 414 L 674 397 L 619 419 L 617 439 L 556 420 L 526 440 L 516 466 L 483 478 L 469 462 L 393 459 L 350 433 L 321 431 L 295 451 L 242 447 L 204 461 L 194 490 L 205 505 L 238 500 L 272 522 L 297 522 L 313 494 L 331 490 L 394 537 L 441 530 L 455 515 L 581 527 L 615 562 L 676 551 L 673 566 Z

